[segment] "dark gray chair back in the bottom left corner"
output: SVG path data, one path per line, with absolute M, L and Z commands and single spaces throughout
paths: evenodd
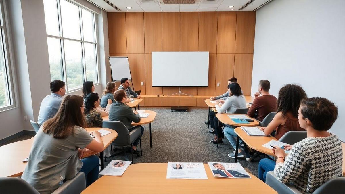
M 7 194 L 39 194 L 28 182 L 18 177 L 0 178 L 0 192 Z

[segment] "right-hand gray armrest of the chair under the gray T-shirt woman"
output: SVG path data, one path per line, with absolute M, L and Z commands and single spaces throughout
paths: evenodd
M 63 183 L 52 194 L 69 194 L 69 193 L 81 193 L 86 188 L 85 174 L 83 172 L 77 173 L 77 175 Z

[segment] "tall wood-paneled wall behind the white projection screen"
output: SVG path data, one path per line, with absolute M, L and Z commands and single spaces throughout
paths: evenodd
M 169 95 L 178 88 L 152 87 L 151 52 L 209 51 L 209 87 L 181 91 L 220 95 L 227 79 L 236 77 L 250 95 L 255 17 L 256 12 L 108 12 L 109 54 L 128 56 L 135 90 Z

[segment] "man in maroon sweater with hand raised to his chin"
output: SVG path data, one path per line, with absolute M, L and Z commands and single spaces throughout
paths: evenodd
M 248 116 L 256 117 L 257 120 L 262 122 L 269 113 L 277 111 L 277 98 L 268 92 L 270 86 L 268 80 L 259 81 L 259 91 L 254 95 L 255 99 L 248 110 Z

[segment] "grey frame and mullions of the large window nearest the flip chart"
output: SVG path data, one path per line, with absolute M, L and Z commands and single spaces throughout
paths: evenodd
M 81 54 L 82 54 L 82 66 L 83 66 L 83 72 L 82 72 L 82 77 L 83 77 L 83 81 L 87 81 L 87 77 L 86 77 L 86 63 L 85 63 L 85 47 L 84 47 L 84 43 L 90 43 L 95 45 L 96 47 L 96 76 L 95 78 L 97 78 L 97 81 L 94 82 L 94 84 L 99 84 L 100 82 L 100 75 L 99 75 L 99 71 L 100 71 L 100 61 L 99 61 L 99 44 L 98 44 L 98 33 L 97 33 L 97 29 L 98 29 L 98 25 L 97 25 L 97 14 L 93 11 L 90 11 L 89 9 L 76 4 L 74 2 L 71 2 L 69 0 L 66 0 L 69 3 L 72 3 L 76 6 L 78 6 L 79 9 L 79 23 L 80 23 L 80 39 L 73 39 L 73 38 L 66 38 L 63 37 L 63 27 L 62 27 L 62 15 L 61 15 L 61 2 L 62 0 L 55 0 L 57 2 L 57 12 L 58 12 L 58 20 L 59 20 L 59 33 L 60 36 L 53 36 L 53 35 L 48 35 L 47 34 L 47 38 L 57 38 L 60 40 L 60 48 L 61 48 L 61 61 L 62 61 L 62 67 L 61 67 L 61 73 L 62 73 L 62 78 L 65 83 L 66 83 L 66 93 L 70 93 L 76 90 L 80 90 L 82 88 L 82 86 L 80 87 L 76 87 L 76 88 L 68 88 L 68 80 L 67 80 L 67 72 L 66 72 L 66 60 L 65 60 L 65 45 L 64 45 L 64 40 L 71 40 L 71 41 L 77 41 L 77 42 L 81 42 Z M 95 32 L 95 42 L 90 42 L 90 41 L 85 41 L 84 39 L 84 35 L 83 35 L 83 24 L 82 24 L 82 9 L 85 9 L 86 11 L 89 11 L 93 14 L 93 23 L 94 23 L 94 32 Z M 49 64 L 50 65 L 50 64 Z

